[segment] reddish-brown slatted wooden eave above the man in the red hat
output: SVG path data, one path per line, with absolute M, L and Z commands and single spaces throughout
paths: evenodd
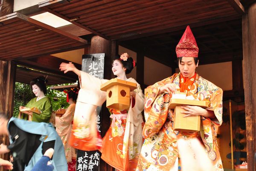
M 204 26 L 244 13 L 238 0 L 46 0 L 39 8 L 108 40 Z

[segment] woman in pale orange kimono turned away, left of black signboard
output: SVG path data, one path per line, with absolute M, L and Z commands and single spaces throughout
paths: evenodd
M 76 171 L 76 150 L 68 143 L 70 138 L 72 122 L 76 108 L 78 89 L 73 88 L 67 92 L 67 102 L 70 104 L 61 117 L 55 117 L 55 127 L 64 145 L 68 170 Z

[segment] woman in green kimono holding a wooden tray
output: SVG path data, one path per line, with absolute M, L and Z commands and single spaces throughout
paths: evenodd
M 38 108 L 41 114 L 33 113 L 32 111 L 22 111 L 21 119 L 27 120 L 28 115 L 32 116 L 32 121 L 34 122 L 44 122 L 49 123 L 52 116 L 52 103 L 49 97 L 45 96 L 47 94 L 46 85 L 47 82 L 44 77 L 38 77 L 30 82 L 30 87 L 32 92 L 35 94 L 35 98 L 31 99 L 29 103 L 26 104 L 27 108 Z M 20 106 L 20 110 L 23 109 Z

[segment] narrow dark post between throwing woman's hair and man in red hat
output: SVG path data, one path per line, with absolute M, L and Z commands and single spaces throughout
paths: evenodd
M 136 66 L 136 81 L 140 84 L 140 87 L 145 89 L 144 87 L 144 53 L 137 52 L 137 66 Z

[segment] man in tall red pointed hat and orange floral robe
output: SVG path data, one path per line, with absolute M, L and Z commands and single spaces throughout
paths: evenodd
M 204 144 L 215 171 L 223 171 L 217 145 L 218 126 L 222 123 L 222 93 L 213 83 L 195 72 L 198 66 L 198 47 L 189 26 L 176 47 L 179 74 L 173 74 L 145 89 L 145 141 L 137 171 L 177 171 L 179 154 L 177 140 L 197 138 Z M 201 116 L 199 132 L 173 130 L 174 110 L 168 109 L 172 92 L 185 92 L 196 100 L 209 100 L 209 108 L 184 105 L 184 117 Z M 181 161 L 182 162 L 182 161 Z M 182 169 L 182 168 L 181 168 Z

